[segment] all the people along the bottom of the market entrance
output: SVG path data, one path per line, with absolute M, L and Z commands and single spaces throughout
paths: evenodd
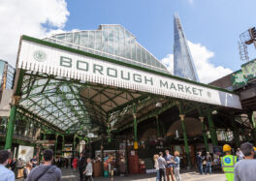
M 222 170 L 225 173 L 227 181 L 252 181 L 256 178 L 256 153 L 255 147 L 249 142 L 242 143 L 240 148 L 236 152 L 236 156 L 232 155 L 232 148 L 230 145 L 225 144 L 223 146 L 223 152 L 225 156 L 220 158 Z M 100 161 L 100 156 L 98 156 Z M 157 171 L 156 181 L 180 181 L 179 174 L 180 158 L 179 152 L 175 151 L 174 156 L 170 154 L 169 150 L 165 151 L 165 155 L 162 152 L 154 155 L 155 168 Z M 66 161 L 66 162 L 65 162 Z M 24 178 L 26 181 L 36 180 L 61 180 L 61 170 L 58 163 L 65 163 L 65 166 L 71 166 L 80 172 L 80 181 L 92 181 L 93 166 L 90 158 L 85 158 L 80 153 L 79 158 L 74 158 L 68 162 L 60 159 L 54 160 L 53 151 L 47 149 L 43 154 L 43 164 L 39 165 L 38 159 L 34 156 L 24 168 Z M 212 158 L 207 152 L 205 156 L 202 156 L 202 152 L 198 152 L 196 156 L 196 163 L 199 169 L 199 173 L 203 174 L 203 163 L 205 165 L 205 174 L 211 173 Z M 0 180 L 14 181 L 15 170 L 19 165 L 23 165 L 22 160 L 10 159 L 10 152 L 6 150 L 0 151 Z M 171 179 L 170 179 L 171 178 Z

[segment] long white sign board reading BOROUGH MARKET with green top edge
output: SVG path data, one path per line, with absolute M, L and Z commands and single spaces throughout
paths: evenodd
M 71 49 L 71 50 L 70 50 Z M 172 75 L 108 61 L 33 38 L 23 37 L 17 67 L 218 106 L 241 108 L 238 95 Z

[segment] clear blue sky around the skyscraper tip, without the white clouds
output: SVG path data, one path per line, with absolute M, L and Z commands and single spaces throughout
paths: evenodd
M 239 0 L 70 0 L 67 3 L 70 16 L 66 30 L 96 29 L 99 24 L 118 23 L 159 59 L 173 53 L 173 15 L 178 13 L 186 38 L 213 51 L 211 63 L 233 71 L 240 69 L 242 63 L 239 35 L 256 24 L 255 0 L 246 3 Z

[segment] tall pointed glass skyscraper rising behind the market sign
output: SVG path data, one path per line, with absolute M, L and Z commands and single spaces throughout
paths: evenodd
M 176 76 L 199 81 L 178 15 L 175 15 L 174 73 Z

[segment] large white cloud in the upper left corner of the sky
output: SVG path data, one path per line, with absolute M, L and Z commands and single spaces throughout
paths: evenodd
M 0 59 L 15 66 L 21 35 L 44 38 L 60 32 L 68 15 L 65 0 L 0 1 Z

